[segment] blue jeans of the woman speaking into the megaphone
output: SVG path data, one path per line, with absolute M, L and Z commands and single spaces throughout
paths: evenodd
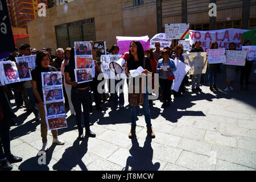
M 131 106 L 131 126 L 135 127 L 136 126 L 136 118 L 137 118 L 137 111 L 139 109 L 139 106 Z M 150 110 L 148 106 L 148 92 L 143 94 L 143 111 L 145 115 L 145 121 L 147 126 L 152 126 L 151 124 L 151 115 L 150 115 Z

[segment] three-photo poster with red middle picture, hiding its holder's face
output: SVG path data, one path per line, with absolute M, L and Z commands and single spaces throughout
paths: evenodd
M 90 42 L 75 42 L 75 78 L 78 84 L 92 81 L 95 76 L 93 49 Z

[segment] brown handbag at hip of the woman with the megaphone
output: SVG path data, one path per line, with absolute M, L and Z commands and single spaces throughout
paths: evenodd
M 143 69 L 145 69 L 146 57 L 143 59 Z M 143 77 L 142 77 L 143 81 Z M 139 93 L 135 92 L 135 86 L 133 85 L 133 93 L 128 93 L 128 101 L 131 106 L 138 106 L 143 104 L 143 93 L 142 93 L 142 81 L 139 83 Z

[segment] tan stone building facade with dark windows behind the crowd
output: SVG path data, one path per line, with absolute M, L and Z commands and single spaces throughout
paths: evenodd
M 217 16 L 209 16 L 216 3 Z M 168 23 L 189 23 L 191 30 L 256 28 L 256 0 L 75 0 L 46 11 L 46 17 L 28 23 L 30 44 L 42 47 L 73 47 L 75 41 L 105 40 L 116 36 L 150 39 L 165 32 Z M 177 40 L 173 40 L 173 46 Z

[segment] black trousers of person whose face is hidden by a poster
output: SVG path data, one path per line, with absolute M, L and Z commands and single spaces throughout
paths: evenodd
M 76 111 L 76 125 L 79 130 L 79 134 L 82 134 L 82 107 L 84 109 L 84 125 L 85 131 L 89 131 L 89 112 L 90 112 L 90 89 L 85 90 L 71 89 L 71 101 Z

